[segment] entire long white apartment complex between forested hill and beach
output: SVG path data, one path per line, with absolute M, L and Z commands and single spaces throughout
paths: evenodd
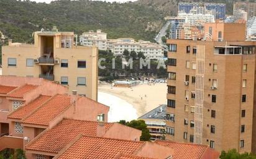
M 163 47 L 150 41 L 135 41 L 133 38 L 107 39 L 107 33 L 97 30 L 83 33 L 80 36 L 80 44 L 83 46 L 98 46 L 101 50 L 110 50 L 115 56 L 121 56 L 124 50 L 136 53 L 142 52 L 149 59 L 163 58 Z

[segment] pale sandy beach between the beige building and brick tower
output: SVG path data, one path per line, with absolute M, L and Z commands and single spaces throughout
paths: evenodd
M 100 84 L 99 92 L 109 93 L 134 106 L 137 116 L 147 113 L 158 105 L 167 103 L 167 84 L 140 84 L 131 88 L 112 87 L 111 84 Z

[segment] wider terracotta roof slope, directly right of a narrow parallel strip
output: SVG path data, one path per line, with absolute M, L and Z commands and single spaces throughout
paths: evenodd
M 52 99 L 47 101 L 47 103 L 40 106 L 38 110 L 23 119 L 22 123 L 48 126 L 53 118 L 62 113 L 62 111 L 70 105 L 70 95 L 55 95 Z

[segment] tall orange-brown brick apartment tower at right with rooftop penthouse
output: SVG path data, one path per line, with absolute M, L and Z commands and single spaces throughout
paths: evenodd
M 166 139 L 256 152 L 256 43 L 245 24 L 204 27 L 204 40 L 167 40 Z

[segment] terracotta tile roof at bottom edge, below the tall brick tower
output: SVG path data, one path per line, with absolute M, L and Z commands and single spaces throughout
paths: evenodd
M 174 148 L 173 159 L 199 159 L 202 157 L 207 145 L 171 142 L 167 140 L 156 140 L 155 143 Z

